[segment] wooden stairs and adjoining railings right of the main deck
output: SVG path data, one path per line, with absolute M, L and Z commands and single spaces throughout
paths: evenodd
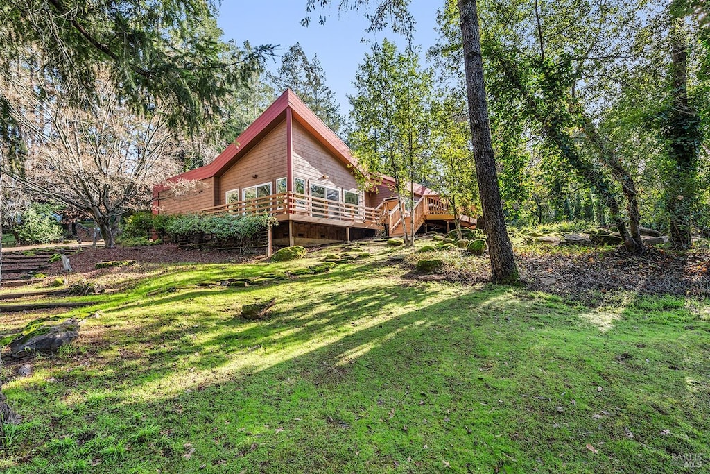
M 417 232 L 427 221 L 454 221 L 454 215 L 449 207 L 442 203 L 438 196 L 422 196 L 415 203 L 414 209 L 411 212 L 406 212 L 404 216 L 396 199 L 385 201 L 382 205 L 383 224 L 388 229 L 389 237 L 402 237 L 405 235 L 405 227 L 408 232 L 411 232 L 413 226 L 414 232 Z M 465 227 L 476 227 L 474 217 L 461 215 L 459 221 Z

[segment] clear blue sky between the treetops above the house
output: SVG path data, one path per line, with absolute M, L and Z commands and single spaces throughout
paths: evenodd
M 365 33 L 368 23 L 362 12 L 339 13 L 334 7 L 325 10 L 329 18 L 324 26 L 318 23 L 316 14 L 312 15 L 310 26 L 305 28 L 300 24 L 306 16 L 305 1 L 224 0 L 218 23 L 224 30 L 225 38 L 239 44 L 244 41 L 252 45 L 271 43 L 288 49 L 300 42 L 309 58 L 317 53 L 327 84 L 335 92 L 341 112 L 346 114 L 349 111 L 346 94 L 354 93 L 352 82 L 355 72 L 364 54 L 371 48 L 361 39 L 378 42 L 389 38 L 402 45 L 404 41 L 391 31 Z M 410 11 L 417 21 L 415 44 L 422 46 L 422 54 L 436 41 L 436 11 L 442 4 L 443 0 L 412 0 Z M 275 62 L 272 61 L 268 67 L 274 70 L 278 68 L 278 63 L 280 58 L 275 58 Z

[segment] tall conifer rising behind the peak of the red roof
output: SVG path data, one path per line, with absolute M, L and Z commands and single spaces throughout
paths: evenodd
M 345 120 L 340 115 L 334 92 L 326 85 L 318 55 L 309 60 L 300 43 L 296 43 L 288 48 L 280 67 L 269 77 L 275 90 L 290 88 L 331 130 L 340 131 Z

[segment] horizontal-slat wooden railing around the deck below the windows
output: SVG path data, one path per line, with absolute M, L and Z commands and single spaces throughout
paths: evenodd
M 340 203 L 323 198 L 314 198 L 300 193 L 280 193 L 256 199 L 234 201 L 201 210 L 204 214 L 230 212 L 233 214 L 262 214 L 278 216 L 304 215 L 323 219 L 377 224 L 381 221 L 381 211 L 362 205 Z

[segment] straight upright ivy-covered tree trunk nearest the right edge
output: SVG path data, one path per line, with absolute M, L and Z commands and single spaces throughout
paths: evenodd
M 688 99 L 688 46 L 682 22 L 671 29 L 673 109 L 667 126 L 668 155 L 667 209 L 670 215 L 672 247 L 687 249 L 692 245 L 692 208 L 697 195 L 697 167 L 700 149 L 698 112 Z

